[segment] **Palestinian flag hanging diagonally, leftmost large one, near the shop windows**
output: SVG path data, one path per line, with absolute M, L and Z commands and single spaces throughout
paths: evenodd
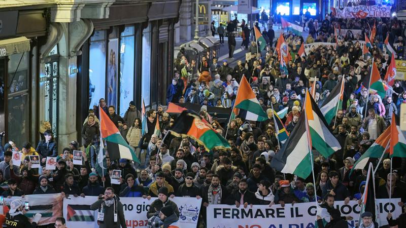
M 109 151 L 110 160 L 115 161 L 125 158 L 140 163 L 134 150 L 124 140 L 123 136 L 121 136 L 116 125 L 114 125 L 103 110 L 100 109 L 99 111 L 100 135 L 101 138 L 107 142 L 107 150 Z

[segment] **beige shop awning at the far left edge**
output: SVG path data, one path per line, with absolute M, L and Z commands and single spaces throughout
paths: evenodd
M 29 39 L 25 36 L 0 40 L 0 57 L 29 51 Z

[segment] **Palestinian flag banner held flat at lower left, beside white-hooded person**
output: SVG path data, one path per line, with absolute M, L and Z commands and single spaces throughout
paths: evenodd
M 63 197 L 60 194 L 47 194 L 47 204 L 44 204 L 44 195 L 29 195 L 26 197 L 29 211 L 24 215 L 32 219 L 35 214 L 42 215 L 38 225 L 55 223 L 57 217 L 62 217 Z

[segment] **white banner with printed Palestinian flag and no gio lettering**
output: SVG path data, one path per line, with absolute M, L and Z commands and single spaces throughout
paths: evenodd
M 150 204 L 158 198 L 143 199 L 141 197 L 121 197 L 123 204 L 125 224 L 127 227 L 146 227 L 147 212 Z M 90 210 L 90 205 L 96 202 L 97 197 L 71 197 L 63 200 L 63 217 L 67 227 L 98 227 L 97 210 Z M 196 228 L 200 214 L 201 199 L 189 197 L 170 198 L 178 205 L 179 221 L 177 225 L 182 228 Z

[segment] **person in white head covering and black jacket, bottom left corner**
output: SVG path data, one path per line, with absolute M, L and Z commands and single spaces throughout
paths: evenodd
M 29 222 L 28 218 L 24 215 L 27 211 L 24 209 L 24 201 L 22 199 L 13 200 L 10 204 L 10 211 L 6 214 L 7 227 L 37 227 L 37 223 L 41 219 L 41 214 L 37 213 Z

